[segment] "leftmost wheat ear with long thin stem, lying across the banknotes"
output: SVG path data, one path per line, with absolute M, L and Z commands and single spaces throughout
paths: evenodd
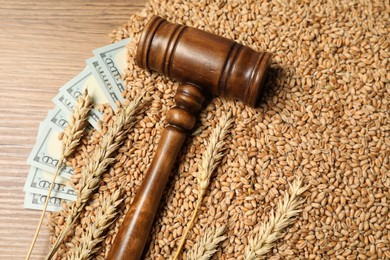
M 35 242 L 38 238 L 39 231 L 41 229 L 43 218 L 45 217 L 45 213 L 47 210 L 47 205 L 49 204 L 50 194 L 53 190 L 55 180 L 58 176 L 60 169 L 63 166 L 65 158 L 69 157 L 75 151 L 76 147 L 80 144 L 80 139 L 83 135 L 84 129 L 87 125 L 87 119 L 89 111 L 91 110 L 92 99 L 88 95 L 88 91 L 85 92 L 78 98 L 76 105 L 73 109 L 73 115 L 69 120 L 68 126 L 65 127 L 64 134 L 62 136 L 62 146 L 61 146 L 61 156 L 57 163 L 57 168 L 54 173 L 53 179 L 49 186 L 49 191 L 46 196 L 45 205 L 43 207 L 43 211 L 41 214 L 41 218 L 39 219 L 38 227 L 35 231 L 35 235 L 30 245 L 30 249 L 28 250 L 26 259 L 30 259 L 32 250 L 34 249 Z

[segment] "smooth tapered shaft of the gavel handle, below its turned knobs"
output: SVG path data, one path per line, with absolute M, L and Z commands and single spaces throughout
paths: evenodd
M 107 259 L 140 259 L 185 133 L 168 126 Z

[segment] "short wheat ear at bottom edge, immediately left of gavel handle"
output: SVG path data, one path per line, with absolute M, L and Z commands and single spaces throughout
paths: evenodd
M 80 244 L 70 249 L 69 260 L 87 260 L 99 250 L 97 247 L 104 237 L 102 234 L 112 224 L 118 215 L 118 205 L 122 202 L 119 199 L 120 190 L 110 194 L 103 199 L 101 207 L 96 211 L 94 221 L 88 230 L 81 235 Z

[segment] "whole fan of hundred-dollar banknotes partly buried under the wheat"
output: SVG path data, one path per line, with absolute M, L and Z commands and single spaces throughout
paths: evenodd
M 122 75 L 126 69 L 126 45 L 129 41 L 130 39 L 125 39 L 94 50 L 94 57 L 86 60 L 86 68 L 62 86 L 54 97 L 55 108 L 50 110 L 46 119 L 41 122 L 36 144 L 27 159 L 31 168 L 24 186 L 25 208 L 43 209 L 61 156 L 62 144 L 58 136 L 67 126 L 77 97 L 83 90 L 88 89 L 94 103 L 88 119 L 90 127 L 98 130 L 98 122 L 103 117 L 98 108 L 102 104 L 110 104 L 116 110 L 116 101 L 123 101 L 122 91 L 125 85 Z M 72 174 L 72 167 L 61 169 L 55 180 L 47 210 L 58 211 L 62 201 L 76 200 L 76 194 L 69 185 Z

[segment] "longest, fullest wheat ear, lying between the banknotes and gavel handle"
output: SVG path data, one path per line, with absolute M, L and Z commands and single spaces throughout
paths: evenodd
M 81 170 L 80 190 L 77 192 L 77 200 L 70 206 L 69 214 L 65 221 L 65 229 L 57 238 L 46 259 L 51 259 L 54 256 L 93 192 L 99 187 L 102 174 L 115 161 L 116 151 L 123 144 L 127 134 L 136 123 L 136 115 L 144 95 L 145 92 L 138 94 L 133 101 L 125 105 L 117 113 L 115 121 L 109 126 L 107 133 L 104 134 L 92 153 L 89 162 Z

